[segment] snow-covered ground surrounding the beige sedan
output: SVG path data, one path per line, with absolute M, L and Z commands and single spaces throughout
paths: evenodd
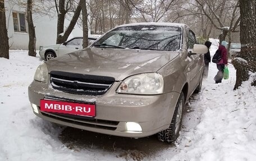
M 0 58 L 0 160 L 132 160 L 104 147 L 74 150 L 60 140 L 63 128 L 33 114 L 28 86 L 41 62 L 24 50 L 10 50 L 9 60 Z M 202 91 L 190 99 L 175 146 L 161 143 L 163 150 L 140 159 L 255 160 L 256 88 L 246 81 L 234 91 L 236 71 L 231 64 L 228 68 L 230 78 L 214 84 L 217 68 L 210 64 Z

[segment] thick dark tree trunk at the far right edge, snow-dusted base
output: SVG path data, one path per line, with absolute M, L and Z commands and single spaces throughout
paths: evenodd
M 249 79 L 249 71 L 256 72 L 256 1 L 239 0 L 240 4 L 240 57 L 232 61 L 236 68 L 237 89 L 243 81 Z M 254 80 L 252 85 L 256 85 Z

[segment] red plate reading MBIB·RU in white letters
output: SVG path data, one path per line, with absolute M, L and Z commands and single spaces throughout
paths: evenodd
M 57 100 L 40 100 L 40 110 L 95 117 L 95 104 L 62 102 Z

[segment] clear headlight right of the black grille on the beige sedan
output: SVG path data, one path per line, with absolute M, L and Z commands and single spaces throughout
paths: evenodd
M 158 73 L 143 73 L 127 77 L 118 87 L 117 93 L 125 94 L 161 94 L 163 77 Z

